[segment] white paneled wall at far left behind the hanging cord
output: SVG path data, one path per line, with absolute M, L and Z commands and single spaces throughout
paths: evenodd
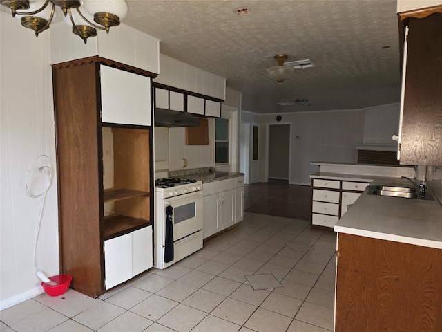
M 43 293 L 33 263 L 41 199 L 26 195 L 25 175 L 32 160 L 45 153 L 54 178 L 44 205 L 37 265 L 47 275 L 59 273 L 59 247 L 49 35 L 46 31 L 36 38 L 18 19 L 0 14 L 0 307 L 6 308 Z

